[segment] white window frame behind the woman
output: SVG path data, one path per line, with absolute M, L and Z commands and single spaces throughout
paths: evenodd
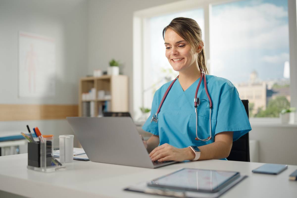
M 137 119 L 141 116 L 139 107 L 143 106 L 143 66 L 144 46 L 146 45 L 144 38 L 146 32 L 146 23 L 148 18 L 160 15 L 171 14 L 191 9 L 202 8 L 204 12 L 204 43 L 206 60 L 210 60 L 210 23 L 212 5 L 230 3 L 239 0 L 186 0 L 165 4 L 157 7 L 151 7 L 134 12 L 133 14 L 133 118 Z M 288 26 L 289 26 L 289 52 L 290 52 L 290 95 L 291 107 L 297 107 L 297 15 L 296 0 L 288 1 Z M 211 70 L 211 63 L 208 61 L 208 71 Z M 294 78 L 295 77 L 295 78 Z M 137 83 L 136 83 L 137 82 Z M 251 123 L 271 123 L 275 122 L 272 118 L 250 118 Z M 297 113 L 295 112 L 295 123 L 297 123 Z

